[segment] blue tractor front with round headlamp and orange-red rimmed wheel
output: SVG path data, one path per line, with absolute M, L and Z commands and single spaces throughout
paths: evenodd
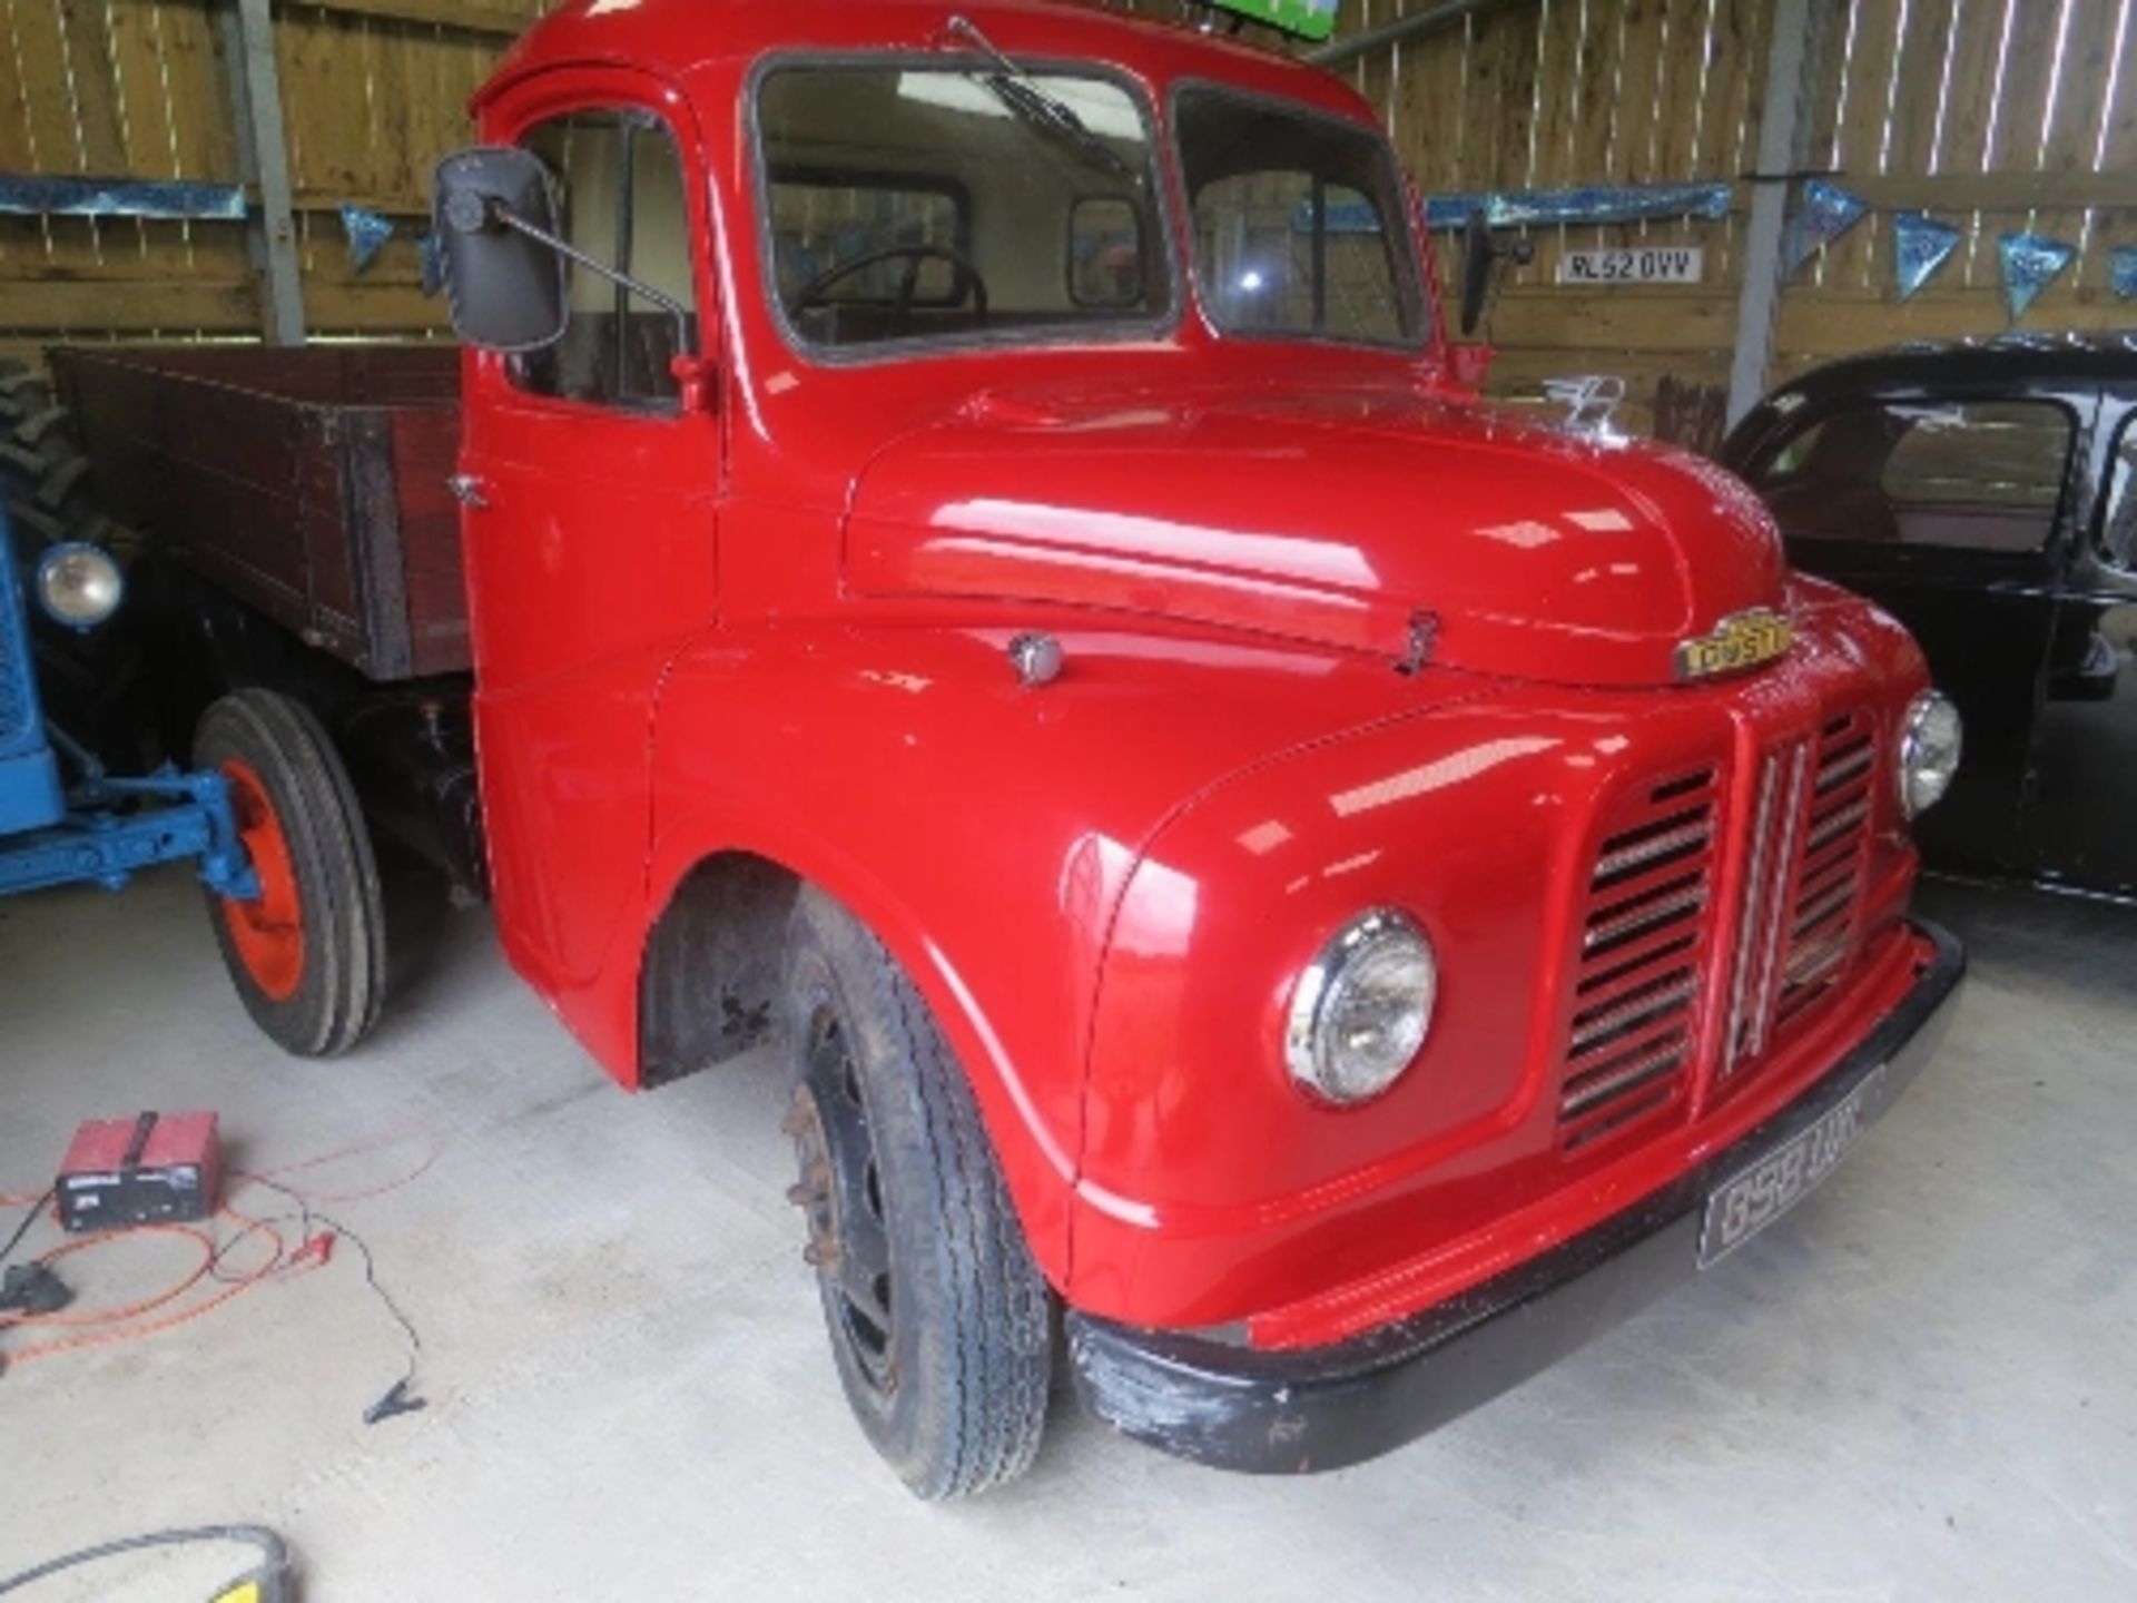
M 30 609 L 58 637 L 88 635 L 124 596 L 111 551 L 17 545 L 0 502 L 0 896 L 118 891 L 145 868 L 190 861 L 254 1022 L 299 1056 L 344 1052 L 385 990 L 378 870 L 348 776 L 318 720 L 261 688 L 207 707 L 194 769 L 107 772 L 45 716 Z

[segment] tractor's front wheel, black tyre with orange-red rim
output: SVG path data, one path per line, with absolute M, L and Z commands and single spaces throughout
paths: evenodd
M 222 962 L 252 1022 L 299 1058 L 348 1052 L 385 1000 L 385 902 L 355 789 L 327 733 L 274 690 L 201 718 L 197 767 L 231 784 L 261 896 L 207 896 Z

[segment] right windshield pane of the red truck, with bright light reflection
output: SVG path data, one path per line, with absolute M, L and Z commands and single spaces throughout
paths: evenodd
M 1417 256 L 1387 143 L 1233 90 L 1177 98 L 1195 289 L 1227 333 L 1415 346 Z

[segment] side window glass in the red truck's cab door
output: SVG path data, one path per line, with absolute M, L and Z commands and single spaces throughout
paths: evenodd
M 637 111 L 575 111 L 539 124 L 526 147 L 558 190 L 564 237 L 596 261 L 695 308 L 690 212 L 675 141 Z M 513 383 L 536 395 L 671 410 L 680 385 L 675 316 L 583 267 L 566 265 L 564 338 L 513 357 Z M 684 340 L 695 348 L 697 316 Z

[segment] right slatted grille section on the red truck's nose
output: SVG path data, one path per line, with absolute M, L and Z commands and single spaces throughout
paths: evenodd
M 1876 767 L 1859 712 L 1761 759 L 1716 1081 L 1763 1056 L 1840 979 L 1855 949 Z

